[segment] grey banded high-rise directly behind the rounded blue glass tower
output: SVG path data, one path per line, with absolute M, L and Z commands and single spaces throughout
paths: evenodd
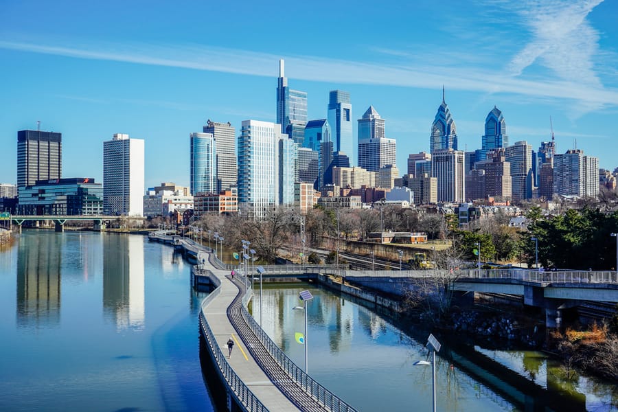
M 238 165 L 236 165 L 236 129 L 230 122 L 217 123 L 208 119 L 203 128 L 210 133 L 216 143 L 217 192 L 236 187 Z

